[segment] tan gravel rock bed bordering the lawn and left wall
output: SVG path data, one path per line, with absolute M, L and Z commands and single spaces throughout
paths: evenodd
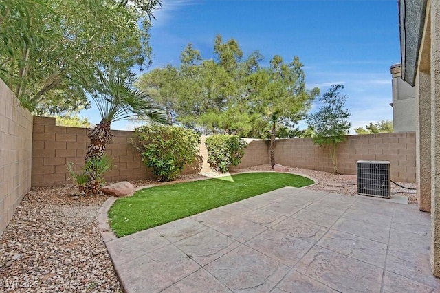
M 322 171 L 289 168 L 318 184 L 313 190 L 354 195 L 356 182 Z M 270 165 L 243 171 L 270 171 Z M 195 180 L 217 175 L 184 175 Z M 134 186 L 157 184 L 155 180 L 131 181 Z M 415 187 L 414 184 L 404 186 Z M 98 230 L 98 210 L 107 197 L 75 197 L 73 185 L 34 187 L 25 195 L 0 237 L 0 292 L 122 292 Z M 412 192 L 412 193 L 401 193 Z M 393 188 L 415 203 L 414 191 Z

